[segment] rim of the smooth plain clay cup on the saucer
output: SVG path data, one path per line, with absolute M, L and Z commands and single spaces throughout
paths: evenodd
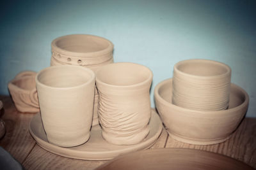
M 85 83 L 82 83 L 80 85 L 75 85 L 75 86 L 72 86 L 72 87 L 52 87 L 52 86 L 49 86 L 49 85 L 45 85 L 44 83 L 41 83 L 39 80 L 38 80 L 38 76 L 39 74 L 41 74 L 42 72 L 44 71 L 47 71 L 49 69 L 54 69 L 56 67 L 75 67 L 77 69 L 84 69 L 86 70 L 92 77 L 86 81 Z M 41 85 L 42 87 L 46 87 L 46 88 L 49 88 L 49 89 L 60 89 L 60 90 L 67 90 L 67 89 L 74 89 L 74 88 L 79 88 L 79 87 L 83 87 L 83 86 L 86 86 L 90 83 L 92 83 L 92 81 L 95 81 L 95 73 L 93 73 L 93 71 L 87 67 L 81 67 L 81 66 L 76 66 L 76 65 L 61 65 L 61 66 L 50 66 L 50 67 L 46 67 L 44 69 L 42 69 L 41 71 L 39 71 L 37 74 L 36 74 L 36 77 L 35 77 L 35 80 L 36 80 L 36 84 L 38 85 Z

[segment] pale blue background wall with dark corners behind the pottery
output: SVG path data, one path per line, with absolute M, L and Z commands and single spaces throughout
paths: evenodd
M 212 59 L 232 69 L 256 117 L 255 1 L 12 1 L 0 7 L 0 94 L 20 71 L 50 66 L 51 41 L 94 34 L 115 45 L 115 62 L 152 69 L 153 89 L 185 59 Z

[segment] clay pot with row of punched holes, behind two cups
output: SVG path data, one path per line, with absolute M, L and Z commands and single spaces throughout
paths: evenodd
M 87 34 L 61 36 L 52 41 L 51 66 L 77 65 L 97 71 L 101 66 L 113 63 L 113 43 L 108 39 Z M 98 93 L 95 90 L 93 125 L 98 122 Z

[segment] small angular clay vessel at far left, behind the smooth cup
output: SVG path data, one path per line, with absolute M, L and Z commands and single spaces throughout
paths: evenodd
M 39 111 L 35 76 L 36 72 L 22 71 L 8 83 L 15 107 L 20 112 L 36 113 Z

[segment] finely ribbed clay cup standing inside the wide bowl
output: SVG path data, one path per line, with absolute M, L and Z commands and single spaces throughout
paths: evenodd
M 231 69 L 213 60 L 183 60 L 173 67 L 173 104 L 201 111 L 228 108 Z

